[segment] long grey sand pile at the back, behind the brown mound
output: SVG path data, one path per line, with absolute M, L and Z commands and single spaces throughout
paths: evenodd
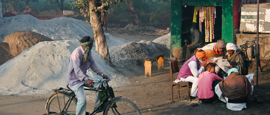
M 13 21 L 8 19 L 12 18 Z M 83 36 L 94 36 L 90 24 L 71 17 L 56 17 L 50 20 L 39 20 L 29 14 L 3 17 L 5 22 L 0 28 L 0 42 L 17 31 L 37 32 L 53 40 L 80 40 Z

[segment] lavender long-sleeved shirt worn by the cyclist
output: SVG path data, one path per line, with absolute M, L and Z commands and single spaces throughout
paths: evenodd
M 83 61 L 83 53 L 84 53 L 83 47 L 79 46 L 71 54 L 68 66 L 67 85 L 69 84 L 70 86 L 73 86 L 78 83 L 84 83 L 84 81 L 87 81 L 89 78 L 91 78 L 88 75 L 86 75 L 86 72 L 89 68 L 91 68 L 91 70 L 97 73 L 97 75 L 101 76 L 103 74 L 96 65 L 92 57 L 91 51 L 89 51 L 88 63 L 83 63 L 81 65 L 81 61 Z

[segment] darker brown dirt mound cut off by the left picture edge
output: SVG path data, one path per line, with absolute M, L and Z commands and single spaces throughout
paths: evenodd
M 0 42 L 0 65 L 12 59 L 14 56 L 9 51 L 8 43 Z

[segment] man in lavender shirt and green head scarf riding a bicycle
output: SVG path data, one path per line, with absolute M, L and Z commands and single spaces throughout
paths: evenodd
M 78 98 L 76 115 L 86 114 L 86 95 L 83 86 L 91 89 L 102 87 L 101 83 L 94 84 L 93 80 L 96 78 L 86 75 L 87 70 L 91 68 L 97 75 L 102 76 L 104 79 L 108 79 L 108 76 L 100 71 L 92 57 L 91 49 L 93 47 L 93 41 L 94 38 L 91 36 L 83 37 L 80 40 L 81 46 L 77 47 L 70 56 L 67 85 Z M 95 108 L 100 104 L 98 97 L 99 93 L 96 92 Z

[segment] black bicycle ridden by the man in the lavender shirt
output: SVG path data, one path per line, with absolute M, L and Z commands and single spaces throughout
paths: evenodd
M 109 92 L 108 81 L 111 79 L 102 80 L 98 78 L 95 83 L 103 83 L 105 90 L 84 88 L 88 91 L 99 91 L 107 94 L 106 98 L 101 101 L 100 105 L 89 115 L 99 113 L 98 109 L 103 110 L 103 115 L 141 115 L 139 109 L 134 103 L 128 99 L 123 99 L 121 96 L 112 98 Z M 77 98 L 74 92 L 66 88 L 53 89 L 55 93 L 46 102 L 47 114 L 52 115 L 76 115 Z M 104 108 L 102 108 L 104 106 Z M 101 111 L 100 111 L 101 112 Z

